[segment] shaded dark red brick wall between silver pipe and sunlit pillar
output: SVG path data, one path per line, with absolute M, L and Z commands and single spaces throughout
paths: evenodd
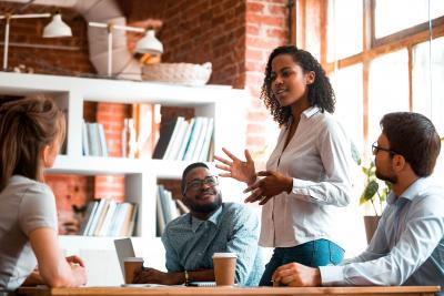
M 130 22 L 161 19 L 163 62 L 211 62 L 209 83 L 244 85 L 245 0 L 134 0 Z

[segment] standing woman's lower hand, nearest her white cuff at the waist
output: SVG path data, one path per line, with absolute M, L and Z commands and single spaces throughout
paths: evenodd
M 251 192 L 251 195 L 245 198 L 245 203 L 260 201 L 259 204 L 264 205 L 281 192 L 291 192 L 292 190 L 293 178 L 281 173 L 262 171 L 258 173 L 258 176 L 264 176 L 264 178 L 258 180 L 253 185 L 244 190 L 244 193 Z

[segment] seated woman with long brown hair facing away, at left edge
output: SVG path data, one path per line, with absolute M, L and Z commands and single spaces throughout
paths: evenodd
M 43 183 L 64 134 L 63 112 L 51 99 L 0 104 L 0 289 L 87 282 L 83 262 L 62 256 L 54 195 Z

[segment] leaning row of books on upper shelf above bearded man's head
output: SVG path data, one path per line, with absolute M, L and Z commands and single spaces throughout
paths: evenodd
M 212 160 L 214 119 L 182 116 L 162 121 L 153 159 L 205 162 Z

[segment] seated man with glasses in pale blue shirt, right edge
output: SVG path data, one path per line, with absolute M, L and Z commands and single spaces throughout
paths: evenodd
M 342 266 L 283 265 L 273 275 L 275 284 L 444 287 L 444 190 L 427 177 L 440 154 L 440 136 L 417 113 L 389 113 L 381 126 L 372 145 L 376 176 L 393 186 L 367 249 Z

